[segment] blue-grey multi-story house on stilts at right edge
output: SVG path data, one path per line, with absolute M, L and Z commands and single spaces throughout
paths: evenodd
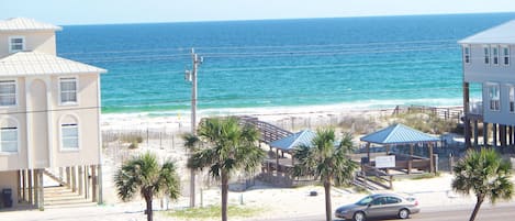
M 513 145 L 515 20 L 463 38 L 459 44 L 462 47 L 467 146 L 481 145 L 480 137 L 484 145 Z M 471 88 L 482 89 L 479 99 L 471 98 Z

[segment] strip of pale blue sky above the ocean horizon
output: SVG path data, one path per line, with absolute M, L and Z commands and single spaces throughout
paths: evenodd
M 515 12 L 514 0 L 0 0 L 0 19 L 54 24 Z

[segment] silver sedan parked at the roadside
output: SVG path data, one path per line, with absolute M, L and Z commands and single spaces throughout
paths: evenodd
M 335 217 L 346 220 L 365 221 L 368 218 L 398 217 L 407 219 L 419 212 L 415 198 L 404 198 L 394 194 L 370 195 L 356 203 L 339 207 Z

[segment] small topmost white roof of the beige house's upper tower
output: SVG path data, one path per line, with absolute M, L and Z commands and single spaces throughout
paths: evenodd
M 13 18 L 0 21 L 0 32 L 3 31 L 60 31 L 63 27 L 38 22 L 27 18 Z

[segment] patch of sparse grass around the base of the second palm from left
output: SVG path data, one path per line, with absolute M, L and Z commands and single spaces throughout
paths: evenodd
M 257 216 L 265 211 L 265 208 L 228 206 L 227 217 L 229 218 L 248 218 Z M 220 205 L 202 208 L 187 208 L 183 210 L 173 210 L 164 212 L 167 217 L 180 220 L 211 220 L 222 216 Z

